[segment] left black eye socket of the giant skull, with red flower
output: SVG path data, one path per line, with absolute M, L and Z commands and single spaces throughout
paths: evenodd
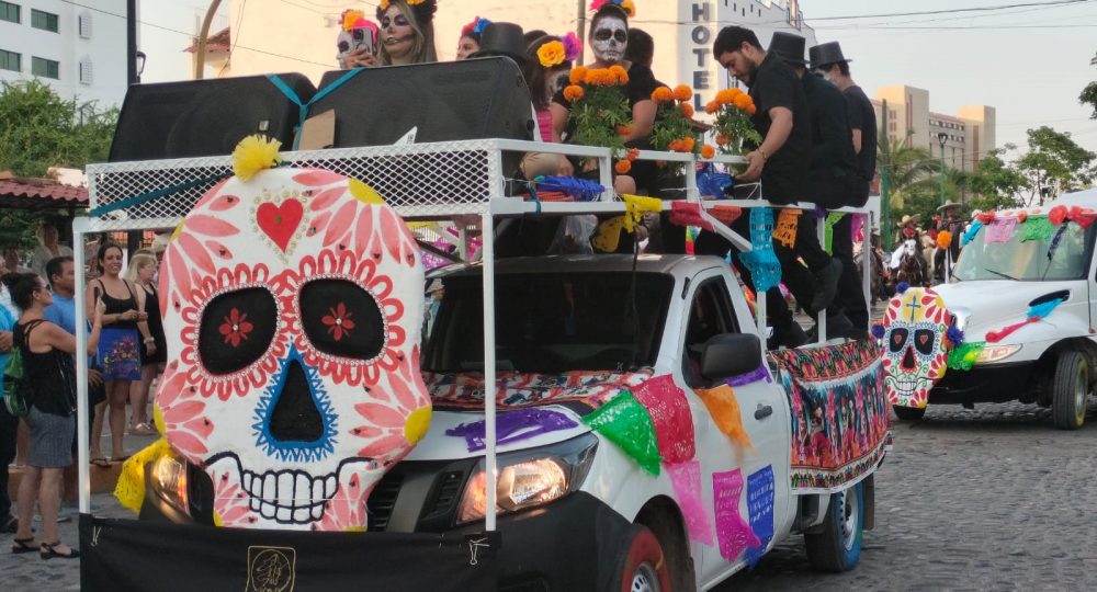
M 213 375 L 239 372 L 262 357 L 278 330 L 278 304 L 263 288 L 210 300 L 199 326 L 199 357 Z

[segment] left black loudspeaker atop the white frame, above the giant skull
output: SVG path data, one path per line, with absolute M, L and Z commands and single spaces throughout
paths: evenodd
M 316 88 L 299 73 L 279 75 L 303 103 Z M 134 84 L 111 144 L 111 162 L 226 156 L 251 134 L 293 147 L 301 109 L 265 76 Z

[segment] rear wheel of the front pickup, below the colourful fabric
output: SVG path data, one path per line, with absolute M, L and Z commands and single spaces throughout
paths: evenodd
M 830 496 L 823 532 L 807 533 L 807 559 L 819 571 L 849 571 L 861 559 L 864 534 L 864 487 L 862 483 Z

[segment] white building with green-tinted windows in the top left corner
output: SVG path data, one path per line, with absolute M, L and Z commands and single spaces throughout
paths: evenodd
M 61 96 L 122 103 L 126 1 L 0 0 L 0 80 L 38 78 Z

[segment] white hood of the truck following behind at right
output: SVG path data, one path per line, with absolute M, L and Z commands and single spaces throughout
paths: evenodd
M 957 327 L 964 331 L 964 341 L 983 341 L 989 331 L 1024 321 L 1030 303 L 1056 293 L 1070 296 L 1052 312 L 1049 322 L 1059 323 L 1070 319 L 1073 322 L 1066 323 L 1082 322 L 1084 329 L 1088 329 L 1089 292 L 1085 281 L 959 282 L 935 286 L 934 291 L 945 300 L 949 311 L 955 315 Z

